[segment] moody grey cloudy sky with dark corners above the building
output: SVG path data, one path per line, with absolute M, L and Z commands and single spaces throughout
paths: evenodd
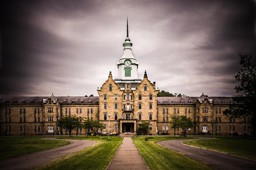
M 255 1 L 1 1 L 0 96 L 98 96 L 118 76 L 126 18 L 139 78 L 188 96 L 234 96 L 256 56 Z

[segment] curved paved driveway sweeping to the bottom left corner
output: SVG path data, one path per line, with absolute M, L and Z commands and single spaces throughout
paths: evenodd
M 43 138 L 43 139 L 56 139 L 57 137 L 52 138 Z M 89 140 L 69 140 L 69 139 L 56 139 L 56 140 L 66 140 L 70 144 L 65 146 L 60 146 L 57 148 L 51 148 L 47 150 L 42 150 L 39 152 L 34 152 L 31 154 L 25 154 L 17 156 L 14 158 L 6 158 L 0 160 L 0 169 L 32 169 L 39 167 L 48 162 L 53 161 L 54 159 L 73 154 L 80 150 L 83 150 L 89 146 L 96 144 L 96 141 Z

